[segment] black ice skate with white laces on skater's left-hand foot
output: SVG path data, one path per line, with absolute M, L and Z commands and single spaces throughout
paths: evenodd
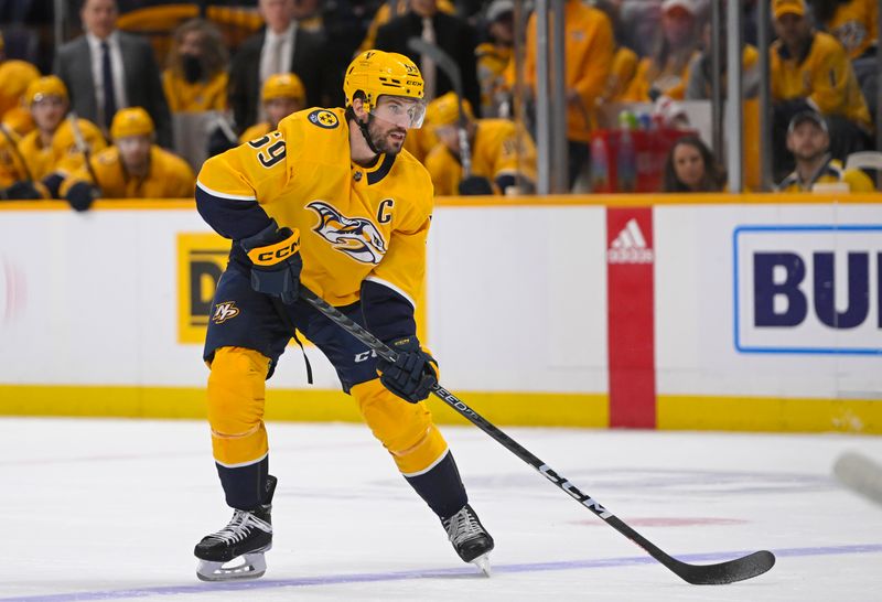
M 276 477 L 268 477 L 268 503 L 254 510 L 235 510 L 229 524 L 196 544 L 200 563 L 196 577 L 203 581 L 257 579 L 267 571 L 263 552 L 272 548 L 270 510 Z M 241 557 L 238 563 L 232 561 Z

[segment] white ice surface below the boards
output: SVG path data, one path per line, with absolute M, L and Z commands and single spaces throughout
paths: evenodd
M 197 581 L 192 556 L 230 515 L 206 424 L 0 419 L 0 601 L 882 600 L 882 507 L 830 476 L 846 450 L 882 459 L 882 438 L 506 429 L 669 553 L 778 555 L 751 581 L 696 587 L 476 428 L 444 433 L 496 539 L 491 579 L 365 427 L 269 431 L 269 569 L 225 587 Z

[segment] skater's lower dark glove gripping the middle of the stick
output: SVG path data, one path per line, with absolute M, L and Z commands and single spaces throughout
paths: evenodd
M 420 348 L 416 336 L 406 336 L 389 343 L 398 354 L 395 364 L 377 359 L 379 381 L 391 393 L 411 404 L 429 397 L 438 383 L 438 363 Z

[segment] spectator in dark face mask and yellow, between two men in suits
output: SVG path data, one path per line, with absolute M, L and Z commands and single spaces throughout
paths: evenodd
M 227 61 L 220 32 L 209 21 L 191 19 L 174 31 L 162 87 L 172 112 L 227 108 Z

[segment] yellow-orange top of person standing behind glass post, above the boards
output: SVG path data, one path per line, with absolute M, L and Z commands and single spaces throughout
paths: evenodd
M 574 88 L 580 105 L 567 106 L 567 138 L 581 142 L 591 140 L 596 99 L 603 95 L 613 62 L 613 26 L 603 11 L 569 0 L 563 9 L 566 52 L 564 85 Z M 527 52 L 524 76 L 536 89 L 536 13 L 527 23 Z M 514 63 L 514 61 L 513 61 Z M 508 72 L 508 83 L 514 84 L 514 67 Z

